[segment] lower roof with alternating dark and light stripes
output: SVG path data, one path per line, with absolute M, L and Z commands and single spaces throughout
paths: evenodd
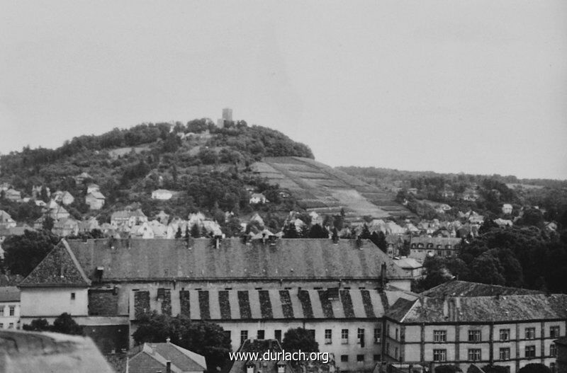
M 156 293 L 157 294 L 157 293 Z M 160 311 L 156 294 L 133 293 L 145 299 L 140 309 Z M 181 314 L 193 320 L 374 319 L 386 313 L 398 298 L 416 299 L 403 292 L 376 289 L 261 289 L 171 290 L 179 299 Z M 409 301 L 408 301 L 409 302 Z M 131 310 L 130 319 L 141 316 Z

